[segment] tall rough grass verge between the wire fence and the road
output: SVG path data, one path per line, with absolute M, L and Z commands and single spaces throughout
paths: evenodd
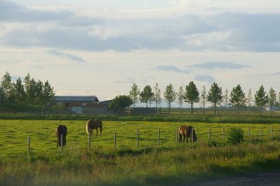
M 218 145 L 217 145 L 218 144 Z M 1 185 L 184 185 L 206 178 L 275 169 L 279 138 L 241 145 L 199 142 L 169 148 L 92 150 L 73 147 L 0 159 Z

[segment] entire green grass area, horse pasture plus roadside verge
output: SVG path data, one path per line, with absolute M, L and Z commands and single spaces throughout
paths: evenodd
M 88 152 L 85 123 L 0 120 L 0 185 L 186 185 L 195 180 L 280 167 L 279 124 L 104 121 L 102 137 L 92 138 Z M 59 124 L 68 127 L 62 154 L 56 148 L 55 129 Z M 193 125 L 196 143 L 176 145 L 176 128 L 182 124 Z M 226 133 L 233 126 L 244 130 L 244 143 L 225 143 L 222 127 Z M 29 157 L 27 136 L 31 137 Z

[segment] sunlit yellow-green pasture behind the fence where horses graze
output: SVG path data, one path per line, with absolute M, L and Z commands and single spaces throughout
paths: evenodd
M 55 129 L 59 124 L 68 127 L 66 137 L 67 144 L 64 148 L 87 148 L 86 121 L 59 121 L 59 120 L 0 120 L 0 152 L 3 157 L 16 157 L 25 155 L 27 151 L 27 137 L 31 138 L 32 155 L 40 155 L 46 152 L 59 152 L 56 148 L 57 139 Z M 248 137 L 248 126 L 251 128 L 251 137 L 270 136 L 270 126 L 273 135 L 280 134 L 279 124 L 217 124 L 200 122 L 132 122 L 132 121 L 104 121 L 102 137 L 92 138 L 92 148 L 113 148 L 113 133 L 117 132 L 117 148 L 137 148 L 137 129 L 139 129 L 139 148 L 156 147 L 158 145 L 158 129 L 160 129 L 160 145 L 169 147 L 176 144 L 176 128 L 181 125 L 193 125 L 198 141 L 207 141 L 209 127 L 211 127 L 211 139 L 221 140 L 223 128 L 225 134 L 230 127 L 239 127 Z M 95 131 L 94 131 L 95 134 Z

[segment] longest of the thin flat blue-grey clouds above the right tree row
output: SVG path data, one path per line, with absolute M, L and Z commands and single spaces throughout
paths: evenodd
M 237 64 L 234 62 L 204 62 L 199 64 L 193 64 L 190 67 L 198 69 L 244 69 L 251 66 L 244 64 Z

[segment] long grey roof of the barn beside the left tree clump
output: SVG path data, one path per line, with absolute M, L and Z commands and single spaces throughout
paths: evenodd
M 98 103 L 97 96 L 55 96 L 52 105 L 65 104 L 69 106 L 71 103 Z

